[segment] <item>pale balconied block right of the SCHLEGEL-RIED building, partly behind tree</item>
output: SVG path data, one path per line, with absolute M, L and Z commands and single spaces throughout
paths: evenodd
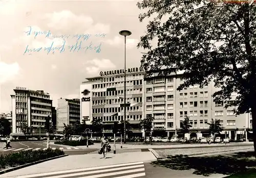
M 204 88 L 198 85 L 177 90 L 182 84 L 182 73 L 169 76 L 153 74 L 144 79 L 144 108 L 146 117 L 154 117 L 153 136 L 172 136 L 179 133 L 185 116 L 190 118 L 190 133 L 186 137 L 209 135 L 211 118 L 220 119 L 224 130 L 221 134 L 231 139 L 246 135 L 248 114 L 235 116 L 232 109 L 224 109 L 223 102 L 215 103 L 211 95 L 218 91 L 214 83 Z M 234 95 L 235 96 L 235 95 Z M 232 97 L 234 97 L 232 96 Z M 231 102 L 232 99 L 228 102 Z

